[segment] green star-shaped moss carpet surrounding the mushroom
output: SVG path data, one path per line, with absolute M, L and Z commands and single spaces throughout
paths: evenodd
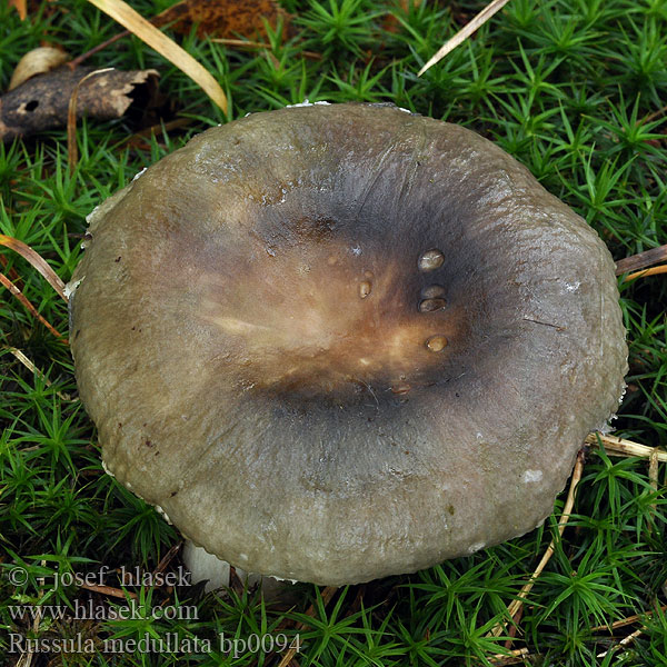
M 86 2 L 44 2 L 37 11 L 29 4 L 29 19 L 20 21 L 7 0 L 0 0 L 1 89 L 21 54 L 44 40 L 77 56 L 119 31 Z M 145 16 L 166 4 L 132 2 Z M 512 0 L 418 78 L 421 64 L 482 6 L 421 2 L 405 11 L 398 3 L 370 0 L 286 0 L 285 8 L 295 16 L 292 27 L 287 37 L 280 31 L 268 36 L 270 53 L 232 50 L 193 36 L 181 41 L 228 92 L 229 119 L 305 98 L 391 101 L 462 123 L 499 143 L 584 216 L 615 258 L 667 242 L 665 3 Z M 305 49 L 323 58 L 303 58 Z M 158 69 L 160 90 L 190 125 L 185 131 L 128 142 L 137 130 L 133 121 L 84 120 L 78 128 L 80 161 L 72 173 L 64 130 L 0 148 L 0 232 L 30 243 L 64 280 L 80 257 L 84 217 L 97 203 L 191 135 L 228 120 L 192 81 L 136 38 L 122 39 L 89 63 Z M 3 251 L 3 272 L 16 270 L 26 296 L 64 334 L 67 308 L 53 290 L 18 256 Z M 664 277 L 655 276 L 620 286 L 630 374 L 615 424 L 623 436 L 647 445 L 667 442 L 666 285 Z M 8 653 L 9 633 L 26 633 L 32 626 L 32 620 L 12 618 L 9 605 L 73 605 L 88 595 L 77 586 L 43 586 L 40 576 L 48 583 L 56 570 L 93 571 L 100 564 L 152 569 L 178 535 L 103 474 L 96 435 L 76 400 L 68 348 L 7 290 L 0 302 L 0 626 L 7 630 L 0 633 L 0 651 Z M 20 349 L 43 376 L 19 364 L 7 346 Z M 663 475 L 660 470 L 660 480 Z M 653 489 L 645 462 L 591 455 L 575 514 L 528 594 L 514 647 L 527 647 L 545 665 L 664 660 L 663 613 L 654 614 L 644 633 L 613 658 L 596 658 L 609 647 L 609 635 L 593 629 L 665 603 L 664 508 L 664 486 Z M 198 618 L 168 620 L 143 614 L 96 621 L 92 630 L 90 624 L 83 628 L 83 621 L 43 618 L 38 635 L 31 636 L 92 631 L 101 641 L 178 633 L 215 640 L 219 633 L 239 638 L 276 635 L 286 620 L 307 620 L 299 633 L 300 665 L 488 664 L 506 639 L 488 633 L 506 617 L 507 605 L 556 532 L 556 516 L 527 536 L 469 558 L 341 591 L 326 607 L 321 593 L 308 586 L 298 587 L 300 600 L 287 613 L 267 608 L 245 591 L 219 600 L 193 588 L 176 589 L 170 597 L 165 590 L 139 590 L 145 606 L 185 604 L 189 597 Z M 18 588 L 8 578 L 17 565 L 28 573 L 28 581 Z M 169 569 L 177 565 L 178 557 Z M 109 583 L 118 584 L 113 577 Z M 107 599 L 99 598 L 104 605 Z M 310 601 L 315 617 L 306 619 Z M 296 634 L 293 623 L 287 630 L 290 637 Z M 17 659 L 9 654 L 4 663 Z M 249 650 L 236 660 L 219 650 L 159 656 L 139 649 L 132 655 L 72 654 L 56 660 L 269 663 Z

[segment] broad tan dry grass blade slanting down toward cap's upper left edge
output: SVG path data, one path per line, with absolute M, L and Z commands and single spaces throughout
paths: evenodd
M 173 40 L 160 32 L 139 12 L 122 0 L 88 0 L 98 9 L 109 14 L 123 28 L 135 33 L 158 53 L 167 58 L 192 81 L 198 83 L 211 100 L 227 113 L 227 97 L 212 74 L 207 71 L 190 53 L 181 49 Z

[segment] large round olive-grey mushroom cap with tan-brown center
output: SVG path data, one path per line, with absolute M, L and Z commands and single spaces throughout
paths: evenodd
M 607 248 L 455 125 L 251 115 L 89 231 L 71 348 L 106 466 L 249 571 L 360 583 L 521 535 L 623 394 Z

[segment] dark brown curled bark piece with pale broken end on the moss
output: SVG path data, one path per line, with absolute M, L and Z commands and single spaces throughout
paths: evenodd
M 90 67 L 71 70 L 64 66 L 33 77 L 0 97 L 0 139 L 11 141 L 44 130 L 64 127 L 70 97 L 77 83 L 93 71 Z M 79 88 L 77 118 L 99 120 L 120 118 L 140 93 L 157 92 L 156 70 L 100 72 Z M 145 90 L 139 89 L 143 87 Z

